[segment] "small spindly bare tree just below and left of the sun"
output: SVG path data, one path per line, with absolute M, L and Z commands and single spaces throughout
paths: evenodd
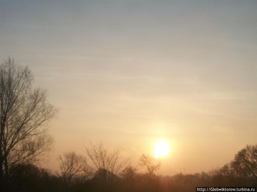
M 154 164 L 154 157 L 142 154 L 142 156 L 139 158 L 139 165 L 140 166 L 146 166 L 148 170 L 148 181 L 150 182 L 152 177 L 154 176 L 154 171 L 160 169 L 160 166 L 162 165 L 161 161 L 159 160 L 157 164 Z

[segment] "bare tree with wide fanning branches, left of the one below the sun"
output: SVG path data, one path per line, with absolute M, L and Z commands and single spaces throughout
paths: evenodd
M 86 147 L 86 154 L 93 162 L 91 168 L 100 177 L 102 183 L 113 185 L 115 176 L 121 174 L 122 169 L 129 165 L 130 158 L 120 160 L 121 147 L 107 150 L 103 147 L 103 143 L 90 144 L 91 148 Z

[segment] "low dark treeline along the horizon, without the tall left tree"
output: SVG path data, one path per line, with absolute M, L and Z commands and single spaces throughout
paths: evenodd
M 257 145 L 247 145 L 234 160 L 208 173 L 156 176 L 160 162 L 148 155 L 139 159 L 147 172 L 120 160 L 121 148 L 107 150 L 102 143 L 86 148 L 86 158 L 75 152 L 58 157 L 61 172 L 25 164 L 9 176 L 9 191 L 195 191 L 196 186 L 243 187 L 257 185 Z M 105 168 L 104 168 L 105 167 Z

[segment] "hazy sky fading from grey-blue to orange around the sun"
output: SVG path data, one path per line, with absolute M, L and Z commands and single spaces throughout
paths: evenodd
M 0 62 L 28 65 L 59 112 L 59 154 L 89 142 L 158 174 L 208 172 L 257 135 L 257 1 L 4 1 Z M 182 170 L 183 172 L 184 170 Z

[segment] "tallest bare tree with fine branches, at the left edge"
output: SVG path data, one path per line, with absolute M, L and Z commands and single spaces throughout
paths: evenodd
M 57 110 L 47 102 L 46 91 L 32 90 L 28 67 L 10 58 L 0 65 L 0 179 L 6 182 L 12 170 L 43 160 L 53 138 L 42 127 Z

